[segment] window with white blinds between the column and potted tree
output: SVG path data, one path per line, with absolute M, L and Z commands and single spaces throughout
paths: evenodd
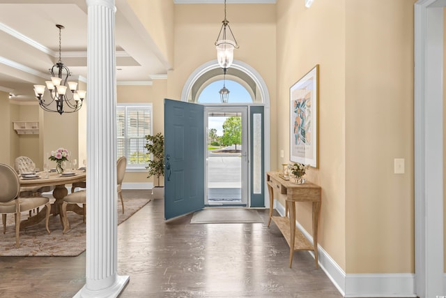
M 144 169 L 149 159 L 146 135 L 152 134 L 151 104 L 118 104 L 116 107 L 116 136 L 118 158 L 127 158 L 128 169 Z

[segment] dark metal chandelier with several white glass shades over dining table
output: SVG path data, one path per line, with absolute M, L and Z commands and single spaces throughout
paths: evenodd
M 60 24 L 56 24 L 56 27 L 59 28 L 59 61 L 48 70 L 51 81 L 45 81 L 51 99 L 45 100 L 43 98 L 45 85 L 34 85 L 34 93 L 40 107 L 47 112 L 58 112 L 59 114 L 77 112 L 82 107 L 86 91 L 76 91 L 77 82 L 68 82 L 71 72 L 67 66 L 63 65 L 61 59 L 61 29 L 65 27 Z M 67 94 L 67 88 L 71 91 L 71 94 Z

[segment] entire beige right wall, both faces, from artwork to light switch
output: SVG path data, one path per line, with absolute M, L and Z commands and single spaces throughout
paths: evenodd
M 414 2 L 277 2 L 277 115 L 319 64 L 319 169 L 307 176 L 323 189 L 319 243 L 348 274 L 414 271 Z M 277 135 L 289 156 L 285 117 Z M 310 206 L 297 209 L 311 231 Z

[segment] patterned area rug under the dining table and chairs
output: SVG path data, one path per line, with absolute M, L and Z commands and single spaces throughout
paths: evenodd
M 121 202 L 118 206 L 118 225 L 130 218 L 136 211 L 144 207 L 150 199 L 148 198 L 124 198 L 124 210 L 122 212 Z M 26 218 L 27 213 L 22 214 Z M 86 225 L 82 216 L 68 211 L 70 230 L 62 233 L 62 225 L 59 216 L 49 217 L 49 230 L 45 229 L 45 220 L 33 225 L 24 231 L 20 231 L 20 248 L 15 248 L 15 224 L 14 216 L 8 215 L 6 223 L 6 234 L 0 232 L 0 256 L 77 256 L 86 249 Z M 1 225 L 1 223 L 0 223 Z

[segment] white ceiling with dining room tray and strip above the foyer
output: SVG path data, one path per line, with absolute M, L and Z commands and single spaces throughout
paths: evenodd
M 174 0 L 177 4 L 223 3 L 224 0 Z M 226 3 L 275 3 L 275 0 L 227 0 Z M 126 0 L 116 0 L 116 80 L 118 84 L 151 84 L 171 69 L 160 57 Z M 63 64 L 72 78 L 86 81 L 86 0 L 0 0 L 0 91 L 12 100 L 35 100 L 33 84 L 49 80 L 59 60 L 62 24 Z M 88 96 L 88 95 L 87 95 Z

